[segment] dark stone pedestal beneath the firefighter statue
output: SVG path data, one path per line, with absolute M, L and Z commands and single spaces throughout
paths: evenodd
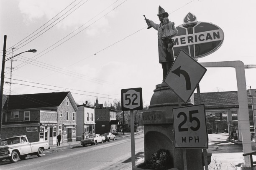
M 193 105 L 191 100 L 182 106 Z M 170 151 L 172 167 L 184 170 L 183 150 L 174 148 L 172 108 L 179 107 L 178 96 L 165 83 L 156 85 L 149 110 L 142 113 L 145 161 L 159 149 Z M 202 149 L 185 149 L 188 170 L 203 170 Z M 209 154 L 210 156 L 211 154 Z M 210 162 L 208 161 L 208 164 Z

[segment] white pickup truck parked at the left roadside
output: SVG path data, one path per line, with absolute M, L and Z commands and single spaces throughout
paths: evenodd
M 30 143 L 26 135 L 15 136 L 1 140 L 0 160 L 9 159 L 10 162 L 16 163 L 19 158 L 20 160 L 25 160 L 27 155 L 41 157 L 43 150 L 48 148 L 48 141 Z

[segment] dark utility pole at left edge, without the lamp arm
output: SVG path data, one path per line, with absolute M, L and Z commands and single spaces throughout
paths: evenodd
M 0 141 L 2 135 L 2 117 L 3 117 L 3 83 L 5 79 L 5 53 L 6 53 L 6 39 L 7 35 L 4 36 L 4 47 L 3 47 L 3 62 L 2 62 L 2 72 L 1 72 L 1 84 L 0 84 Z

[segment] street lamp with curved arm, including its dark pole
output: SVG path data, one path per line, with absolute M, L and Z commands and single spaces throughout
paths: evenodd
M 5 54 L 6 54 L 6 39 L 7 36 L 4 36 L 4 47 L 3 47 L 3 62 L 2 62 L 2 72 L 1 72 L 1 84 L 0 84 L 0 141 L 1 141 L 1 135 L 2 135 L 2 114 L 3 114 L 3 84 L 4 84 L 4 78 L 5 78 L 5 62 L 12 59 L 13 57 L 16 57 L 24 52 L 37 52 L 37 50 L 28 50 L 24 52 L 20 52 L 17 55 L 14 55 L 12 57 L 9 57 L 5 60 Z

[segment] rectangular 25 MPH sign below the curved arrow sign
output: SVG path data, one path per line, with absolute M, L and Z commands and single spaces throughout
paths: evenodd
M 172 109 L 175 148 L 208 148 L 205 105 Z

